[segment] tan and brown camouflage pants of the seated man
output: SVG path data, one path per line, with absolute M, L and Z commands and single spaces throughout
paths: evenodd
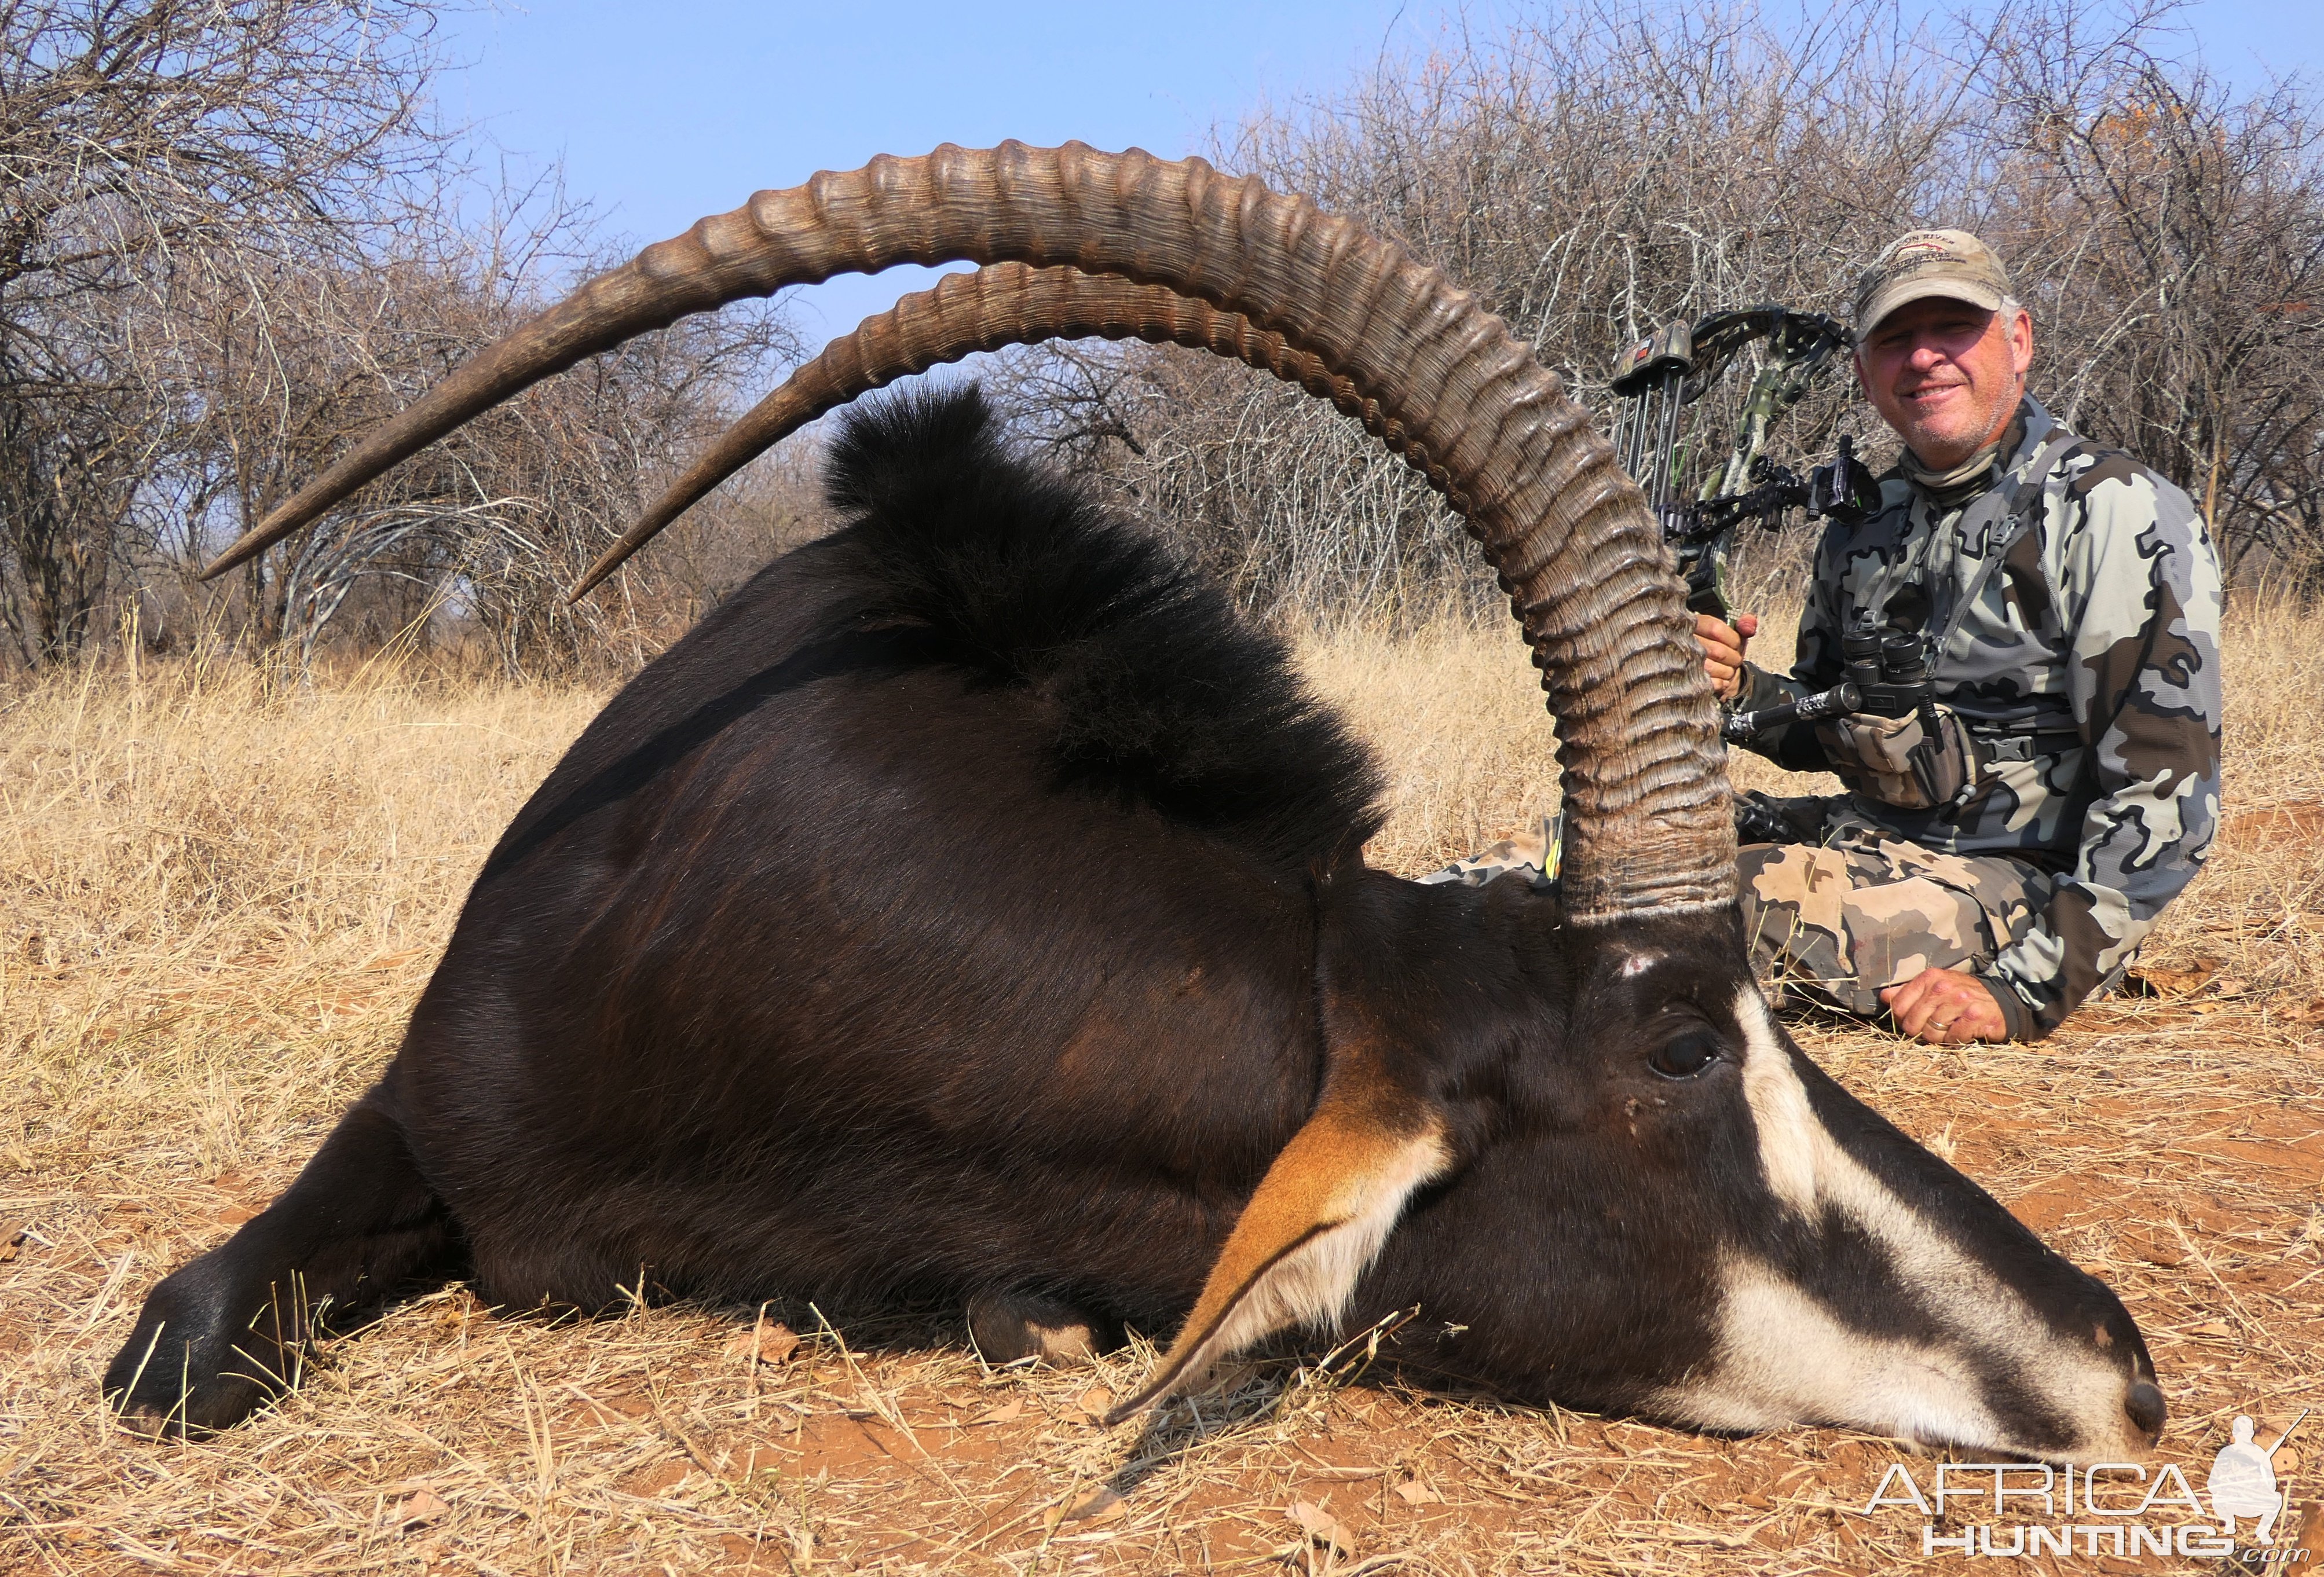
M 1815 801 L 1787 801 L 1799 808 Z M 1545 885 L 1555 820 L 1457 859 L 1427 883 Z M 1978 968 L 2050 903 L 2050 878 L 2006 855 L 1938 855 L 1836 815 L 1822 843 L 1745 843 L 1736 887 L 1752 966 L 1771 994 L 1796 992 L 1875 1017 L 1880 992 L 1924 968 Z

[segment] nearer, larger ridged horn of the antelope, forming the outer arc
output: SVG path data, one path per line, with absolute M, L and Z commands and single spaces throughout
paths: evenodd
M 479 411 L 686 314 L 897 262 L 1030 262 L 1208 300 L 1318 355 L 1446 474 L 1501 571 L 1559 722 L 1576 920 L 1734 901 L 1715 706 L 1655 523 L 1557 379 L 1439 269 L 1199 158 L 944 146 L 765 190 L 514 330 L 258 523 L 307 525 Z

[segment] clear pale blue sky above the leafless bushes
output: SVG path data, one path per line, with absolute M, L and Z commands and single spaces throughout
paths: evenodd
M 567 193 L 644 244 L 760 186 L 939 142 L 1199 151 L 1262 95 L 1329 93 L 1383 46 L 1425 51 L 1462 16 L 1499 30 L 1492 7 L 1436 0 L 532 0 L 446 19 L 465 65 L 442 105 L 518 163 L 562 158 Z M 2324 67 L 2319 2 L 2199 0 L 2182 19 L 2240 79 Z M 925 279 L 818 286 L 802 327 L 846 332 Z

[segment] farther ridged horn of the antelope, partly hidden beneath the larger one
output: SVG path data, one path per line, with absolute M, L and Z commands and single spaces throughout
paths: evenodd
M 1427 474 L 1401 423 L 1387 420 L 1376 399 L 1364 399 L 1353 379 L 1334 376 L 1320 355 L 1294 351 L 1283 334 L 1257 327 L 1239 311 L 1178 295 L 1164 286 L 1141 286 L 1111 274 L 1074 267 L 1037 269 L 999 262 L 974 274 L 946 274 L 934 290 L 916 290 L 895 307 L 855 325 L 823 346 L 816 360 L 751 406 L 732 427 L 695 458 L 686 474 L 607 548 L 588 574 L 574 581 L 569 602 L 581 602 L 623 560 L 702 502 L 727 476 L 751 465 L 806 423 L 851 399 L 885 388 L 916 372 L 957 362 L 976 351 L 1039 344 L 1043 339 L 1146 339 L 1227 355 L 1322 395 L 1364 423 L 1413 469 Z M 1443 485 L 1443 467 L 1432 481 Z

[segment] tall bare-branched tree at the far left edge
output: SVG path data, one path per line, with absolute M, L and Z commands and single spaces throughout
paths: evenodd
M 411 0 L 0 7 L 0 615 L 77 650 L 170 395 L 137 314 L 221 253 L 311 246 L 442 160 Z

